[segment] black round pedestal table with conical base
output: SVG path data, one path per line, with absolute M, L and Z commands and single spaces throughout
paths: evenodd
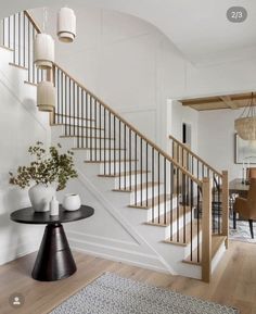
M 33 208 L 13 212 L 10 217 L 21 224 L 47 224 L 31 276 L 40 281 L 54 281 L 69 277 L 76 272 L 62 223 L 71 223 L 92 216 L 94 210 L 81 205 L 74 212 L 67 212 L 60 205 L 60 214 L 50 216 L 50 212 L 35 212 Z

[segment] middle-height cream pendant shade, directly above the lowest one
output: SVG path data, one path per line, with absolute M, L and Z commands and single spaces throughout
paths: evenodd
M 34 41 L 34 62 L 37 67 L 47 70 L 54 62 L 54 40 L 48 34 L 37 34 Z

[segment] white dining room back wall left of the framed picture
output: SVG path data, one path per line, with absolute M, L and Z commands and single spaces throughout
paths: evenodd
M 241 110 L 218 110 L 199 114 L 199 154 L 215 168 L 229 172 L 229 179 L 242 177 L 234 163 L 234 120 Z

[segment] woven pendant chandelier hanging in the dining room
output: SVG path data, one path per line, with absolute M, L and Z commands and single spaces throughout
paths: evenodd
M 243 140 L 256 140 L 256 110 L 253 92 L 241 116 L 234 121 L 234 129 Z

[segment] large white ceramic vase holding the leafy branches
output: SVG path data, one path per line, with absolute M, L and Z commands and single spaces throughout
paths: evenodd
M 28 196 L 35 212 L 48 212 L 50 210 L 50 201 L 55 196 L 55 191 L 54 187 L 43 184 L 31 187 L 28 190 Z

